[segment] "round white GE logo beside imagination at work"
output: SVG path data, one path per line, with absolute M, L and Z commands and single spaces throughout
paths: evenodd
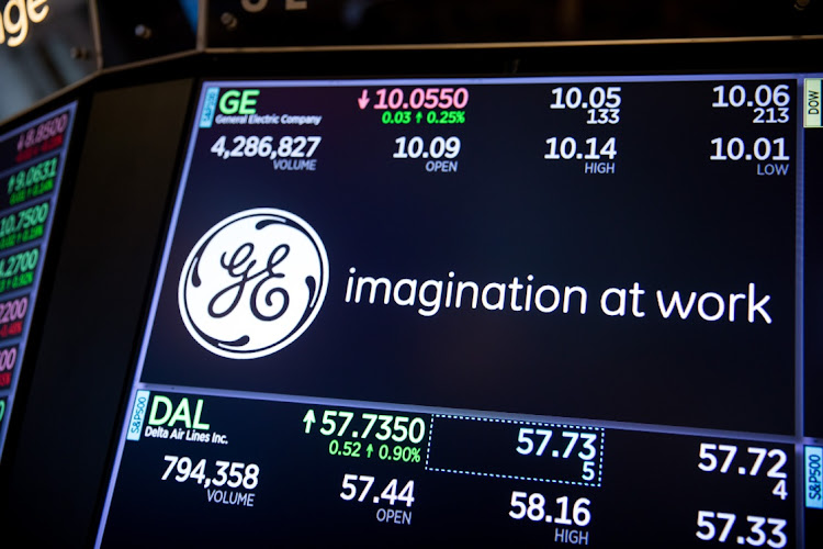
M 178 302 L 200 345 L 221 357 L 259 358 L 305 332 L 327 285 L 317 233 L 294 214 L 259 208 L 203 235 L 185 260 Z

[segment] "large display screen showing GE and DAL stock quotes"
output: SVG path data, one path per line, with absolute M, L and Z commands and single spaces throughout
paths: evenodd
M 98 546 L 812 547 L 820 93 L 204 82 Z

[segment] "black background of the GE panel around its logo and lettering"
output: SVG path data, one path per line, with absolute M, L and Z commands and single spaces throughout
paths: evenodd
M 610 82 L 604 82 L 604 85 Z M 469 86 L 462 126 L 383 125 L 361 87 L 264 88 L 259 113 L 322 114 L 313 126 L 200 130 L 142 381 L 527 414 L 790 434 L 793 429 L 794 178 L 712 163 L 710 141 L 783 135 L 751 112 L 711 109 L 717 82 L 622 82 L 621 122 L 548 109 L 557 85 Z M 207 85 L 206 85 L 207 86 Z M 382 85 L 381 85 L 382 86 Z M 253 86 L 252 86 L 253 87 Z M 391 87 L 386 85 L 386 87 Z M 407 87 L 406 89 L 409 89 Z M 586 89 L 587 86 L 582 86 Z M 218 158 L 217 136 L 322 135 L 317 171 Z M 774 135 L 773 135 L 774 134 Z M 459 135 L 459 171 L 392 159 L 401 135 Z M 548 161 L 550 136 L 616 136 L 617 173 Z M 602 142 L 601 142 L 602 143 Z M 793 150 L 793 135 L 787 136 Z M 320 235 L 330 282 L 306 333 L 262 359 L 201 348 L 177 305 L 179 272 L 212 225 L 259 206 Z M 343 302 L 361 276 L 582 285 L 588 313 L 441 310 Z M 599 294 L 640 282 L 643 318 L 607 317 Z M 655 290 L 746 293 L 774 323 L 661 318 Z M 535 285 L 537 288 L 537 285 Z

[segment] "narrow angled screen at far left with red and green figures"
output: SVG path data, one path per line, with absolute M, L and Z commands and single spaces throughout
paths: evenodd
M 0 459 L 63 179 L 76 104 L 0 135 Z

